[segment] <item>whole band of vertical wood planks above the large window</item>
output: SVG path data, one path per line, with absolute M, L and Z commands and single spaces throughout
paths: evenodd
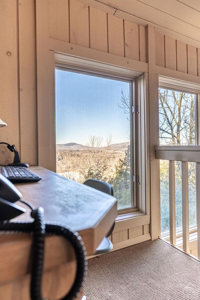
M 49 37 L 146 62 L 145 27 L 76 0 L 48 0 Z

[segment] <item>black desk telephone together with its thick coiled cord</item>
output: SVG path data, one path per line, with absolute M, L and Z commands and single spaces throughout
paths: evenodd
M 47 223 L 44 221 L 44 210 L 42 207 L 32 208 L 31 216 L 33 222 L 10 222 L 9 220 L 19 216 L 26 210 L 13 202 L 22 201 L 22 194 L 2 174 L 0 174 L 0 231 L 17 231 L 32 233 L 33 236 L 33 258 L 30 294 L 32 300 L 44 300 L 42 297 L 42 273 L 44 260 L 45 236 L 50 234 L 60 235 L 69 240 L 74 248 L 77 259 L 77 273 L 71 290 L 61 300 L 72 300 L 78 297 L 86 274 L 87 261 L 86 249 L 78 232 L 72 232 L 62 224 Z M 24 202 L 24 201 L 22 201 Z M 24 202 L 25 203 L 25 202 Z

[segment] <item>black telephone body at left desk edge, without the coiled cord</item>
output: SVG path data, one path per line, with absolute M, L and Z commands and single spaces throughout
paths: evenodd
M 26 210 L 14 204 L 22 198 L 17 188 L 2 174 L 0 174 L 0 221 L 11 220 Z

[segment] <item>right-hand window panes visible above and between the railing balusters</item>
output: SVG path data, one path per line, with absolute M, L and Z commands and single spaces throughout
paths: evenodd
M 159 139 L 160 145 L 197 145 L 196 94 L 160 88 Z M 188 163 L 189 225 L 196 225 L 195 163 Z M 182 230 L 182 165 L 175 162 L 176 231 Z M 169 231 L 168 161 L 160 161 L 161 233 Z

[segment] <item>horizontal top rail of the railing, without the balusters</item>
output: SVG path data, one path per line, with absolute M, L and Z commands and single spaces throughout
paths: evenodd
M 200 146 L 155 146 L 156 159 L 200 163 Z

